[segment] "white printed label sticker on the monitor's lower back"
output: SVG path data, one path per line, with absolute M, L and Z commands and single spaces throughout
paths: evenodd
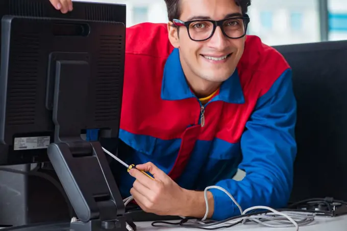
M 13 150 L 46 149 L 49 146 L 51 137 L 18 137 L 14 138 Z

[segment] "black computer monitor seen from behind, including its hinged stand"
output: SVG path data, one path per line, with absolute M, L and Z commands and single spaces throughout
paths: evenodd
M 127 230 L 100 142 L 117 137 L 126 6 L 0 0 L 0 165 L 50 161 L 75 210 L 72 230 Z

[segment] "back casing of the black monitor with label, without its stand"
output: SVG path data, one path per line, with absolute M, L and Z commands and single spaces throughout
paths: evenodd
M 0 17 L 3 18 L 4 15 L 126 23 L 125 6 L 115 4 L 74 2 L 74 10 L 68 14 L 62 14 L 55 10 L 48 0 L 0 0 Z M 20 23 L 24 25 L 27 22 Z M 43 25 L 43 22 L 41 24 Z M 3 20 L 0 26 L 2 25 L 6 27 L 8 23 Z M 108 31 L 109 28 L 106 27 L 111 26 L 108 23 L 97 29 L 100 36 L 96 35 L 95 31 L 87 37 L 83 37 L 82 34 L 81 36 L 57 35 L 57 33 L 82 33 L 83 31 L 78 30 L 88 30 L 83 26 L 80 24 L 76 27 L 63 28 L 64 24 L 56 24 L 55 27 L 52 27 L 51 35 L 43 35 L 44 33 L 41 31 L 44 30 L 39 27 L 12 28 L 10 45 L 9 41 L 6 41 L 10 38 L 7 34 L 8 28 L 1 27 L 4 30 L 1 50 L 6 48 L 7 50 L 4 50 L 3 55 L 0 56 L 2 63 L 0 70 L 2 76 L 8 71 L 11 78 L 7 85 L 4 84 L 4 78 L 2 78 L 3 82 L 0 86 L 2 88 L 0 107 L 3 107 L 0 110 L 0 165 L 48 160 L 44 147 L 49 143 L 48 139 L 53 141 L 54 123 L 51 117 L 52 108 L 47 109 L 47 100 L 52 101 L 52 91 L 51 95 L 46 97 L 45 84 L 49 76 L 55 74 L 47 75 L 52 63 L 48 62 L 47 55 L 53 51 L 85 52 L 91 55 L 89 58 L 93 65 L 90 69 L 92 81 L 94 81 L 92 85 L 95 85 L 95 88 L 91 90 L 95 92 L 90 92 L 90 99 L 85 100 L 89 105 L 89 111 L 83 118 L 88 121 L 85 122 L 87 124 L 84 127 L 86 129 L 88 127 L 107 127 L 105 126 L 107 123 L 112 123 L 115 128 L 112 136 L 117 136 L 117 124 L 119 123 L 117 113 L 120 109 L 117 104 L 120 103 L 120 86 L 122 86 L 122 82 L 120 82 L 122 80 L 118 76 L 122 74 L 123 66 L 119 52 L 123 47 L 125 35 L 110 36 L 116 32 Z M 58 40 L 58 38 L 62 40 Z M 11 53 L 8 53 L 9 51 Z M 9 65 L 6 63 L 8 57 Z M 7 70 L 7 68 L 9 69 Z M 54 68 L 50 70 L 55 71 Z M 114 79 L 112 79 L 113 76 L 115 76 Z M 110 94 L 108 97 L 109 92 L 113 92 L 115 95 Z M 93 94 L 95 94 L 95 98 Z M 52 102 L 50 103 L 52 104 Z M 4 108 L 5 105 L 7 108 Z M 77 114 L 75 115 L 77 116 Z M 112 122 L 109 121 L 110 118 L 112 118 Z

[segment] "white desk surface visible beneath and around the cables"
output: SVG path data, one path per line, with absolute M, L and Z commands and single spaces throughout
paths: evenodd
M 196 228 L 184 228 L 184 227 L 153 227 L 152 222 L 135 222 L 138 231 L 192 231 L 192 230 L 204 230 Z M 247 230 L 247 231 L 291 231 L 295 230 L 295 227 L 289 228 L 272 228 L 263 226 L 260 224 L 239 224 L 230 228 L 218 229 L 226 231 L 234 230 Z M 307 226 L 300 226 L 299 231 L 346 231 L 347 230 L 347 215 L 340 217 L 315 217 L 314 221 Z

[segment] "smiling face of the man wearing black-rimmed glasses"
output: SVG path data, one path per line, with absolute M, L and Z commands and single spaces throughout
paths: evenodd
M 180 9 L 179 19 L 182 21 L 190 21 L 192 18 L 221 20 L 230 18 L 233 14 L 242 16 L 241 8 L 233 0 L 181 0 Z M 191 36 L 193 30 L 200 33 L 199 30 L 203 27 L 207 28 L 207 25 L 203 24 L 191 24 L 191 27 L 193 26 L 194 28 L 189 29 Z M 234 27 L 228 29 L 227 26 Z M 224 28 L 232 30 L 230 28 L 235 28 L 235 22 L 226 24 Z M 243 53 L 245 37 L 230 39 L 218 26 L 210 39 L 197 42 L 189 38 L 185 26 L 180 26 L 178 38 L 175 28 L 171 27 L 169 30 L 172 45 L 180 50 L 181 64 L 187 78 L 194 81 L 201 79 L 205 82 L 222 82 L 234 73 Z M 172 39 L 172 36 L 176 39 Z

